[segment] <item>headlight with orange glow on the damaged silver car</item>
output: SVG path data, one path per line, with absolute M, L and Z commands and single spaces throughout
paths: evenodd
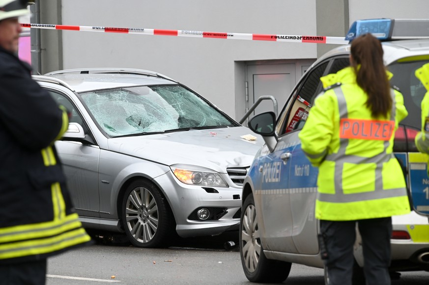
M 218 172 L 208 168 L 183 164 L 175 164 L 170 166 L 170 168 L 174 176 L 185 184 L 228 187 L 227 182 L 225 182 Z

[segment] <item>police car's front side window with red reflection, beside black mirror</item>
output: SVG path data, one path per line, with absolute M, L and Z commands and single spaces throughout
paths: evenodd
M 308 112 L 311 108 L 311 102 L 315 95 L 321 90 L 320 77 L 324 75 L 328 62 L 324 62 L 312 69 L 304 79 L 304 83 L 294 94 L 294 102 L 287 113 L 286 124 L 282 126 L 279 134 L 285 134 L 292 130 L 300 130 L 307 120 Z

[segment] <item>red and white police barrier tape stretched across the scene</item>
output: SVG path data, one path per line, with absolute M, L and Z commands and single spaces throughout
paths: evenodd
M 193 37 L 193 38 L 216 38 L 216 39 L 233 39 L 233 40 L 336 44 L 336 45 L 348 44 L 348 41 L 346 41 L 344 37 L 329 37 L 329 36 L 249 34 L 249 33 L 229 33 L 229 32 L 203 32 L 203 31 L 192 31 L 192 30 L 166 30 L 166 29 L 149 29 L 149 28 L 106 27 L 106 26 L 67 26 L 67 25 L 49 25 L 49 24 L 21 24 L 21 26 L 26 28 L 40 28 L 40 29 L 92 31 L 92 32 L 106 32 L 106 33 L 127 33 L 127 34 L 160 35 L 160 36 Z

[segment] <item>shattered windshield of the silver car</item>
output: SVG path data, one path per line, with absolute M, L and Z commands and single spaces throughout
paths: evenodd
M 82 93 L 81 97 L 110 136 L 236 126 L 180 85 L 105 89 Z

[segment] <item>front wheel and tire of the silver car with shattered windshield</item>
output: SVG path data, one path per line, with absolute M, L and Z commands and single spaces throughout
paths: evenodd
M 153 183 L 133 181 L 122 200 L 122 226 L 136 247 L 168 247 L 175 222 L 167 200 Z

